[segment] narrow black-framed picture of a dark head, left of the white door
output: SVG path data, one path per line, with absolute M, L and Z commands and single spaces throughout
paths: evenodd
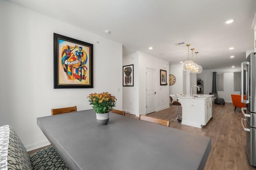
M 133 64 L 123 66 L 123 86 L 133 86 Z

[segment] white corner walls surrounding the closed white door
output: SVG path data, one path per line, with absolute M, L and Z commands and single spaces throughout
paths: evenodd
M 130 64 L 134 64 L 134 87 L 123 87 L 123 110 L 136 116 L 146 113 L 146 68 L 156 70 L 156 111 L 168 108 L 169 85 L 160 86 L 160 69 L 166 70 L 166 75 L 169 75 L 168 61 L 136 51 L 123 56 L 123 65 Z

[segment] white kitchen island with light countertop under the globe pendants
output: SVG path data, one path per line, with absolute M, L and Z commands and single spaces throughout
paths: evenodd
M 182 107 L 183 125 L 202 128 L 212 117 L 212 96 L 214 95 L 182 95 L 177 96 Z

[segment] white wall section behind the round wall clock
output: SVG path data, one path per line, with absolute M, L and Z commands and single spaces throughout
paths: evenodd
M 174 83 L 174 85 L 169 85 L 170 95 L 183 93 L 182 64 L 169 65 L 169 74 L 172 74 L 176 77 L 176 82 Z

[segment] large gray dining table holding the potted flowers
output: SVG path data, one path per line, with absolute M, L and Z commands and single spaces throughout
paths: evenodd
M 93 110 L 37 118 L 71 170 L 203 170 L 211 138 L 110 113 L 98 125 Z

